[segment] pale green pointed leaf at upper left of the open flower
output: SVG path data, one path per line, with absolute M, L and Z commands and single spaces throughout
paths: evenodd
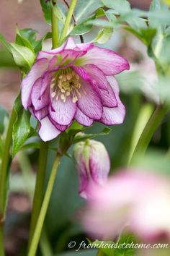
M 32 53 L 30 48 L 19 46 L 17 43 L 10 43 L 10 48 L 17 66 L 25 72 L 29 71 L 35 61 L 35 54 Z

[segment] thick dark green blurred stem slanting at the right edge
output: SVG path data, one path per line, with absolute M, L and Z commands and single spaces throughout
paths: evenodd
M 142 134 L 138 140 L 138 144 L 135 147 L 132 158 L 130 159 L 130 163 L 133 161 L 136 155 L 143 155 L 148 148 L 148 144 L 153 137 L 154 132 L 158 128 L 161 121 L 164 119 L 169 108 L 167 106 L 158 106 L 156 110 L 153 112 L 151 118 L 148 120 L 145 128 L 143 129 Z

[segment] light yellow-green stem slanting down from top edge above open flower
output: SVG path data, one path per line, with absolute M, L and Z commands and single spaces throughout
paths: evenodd
M 60 43 L 63 42 L 63 40 L 66 38 L 66 35 L 68 33 L 68 27 L 70 25 L 70 22 L 71 22 L 71 19 L 72 19 L 72 16 L 73 16 L 73 11 L 76 7 L 76 2 L 77 2 L 77 0 L 71 0 L 71 5 L 70 5 L 70 8 L 68 10 L 68 14 L 67 14 L 67 17 L 66 17 L 66 22 L 65 22 L 65 25 L 63 26 L 63 31 L 62 31 L 62 34 L 61 34 Z

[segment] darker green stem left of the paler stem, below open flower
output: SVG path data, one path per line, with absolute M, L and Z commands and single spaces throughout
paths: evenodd
M 29 244 L 32 241 L 32 236 L 35 232 L 35 226 L 36 226 L 37 219 L 40 213 L 40 208 L 42 205 L 47 158 L 48 158 L 48 143 L 41 141 L 39 163 L 37 168 L 37 177 L 36 177 L 36 184 L 35 184 L 35 194 L 34 194 L 33 203 L 32 203 L 32 216 L 31 216 L 31 224 L 30 224 Z

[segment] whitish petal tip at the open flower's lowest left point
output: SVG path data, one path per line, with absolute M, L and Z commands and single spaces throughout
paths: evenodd
M 53 140 L 60 134 L 61 131 L 51 123 L 48 116 L 40 121 L 39 135 L 43 141 Z

